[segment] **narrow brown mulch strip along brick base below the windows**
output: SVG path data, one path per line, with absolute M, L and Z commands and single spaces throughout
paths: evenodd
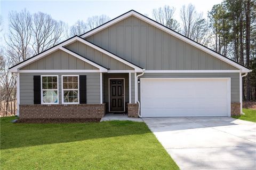
M 18 119 L 17 123 L 89 123 L 89 122 L 100 122 L 100 119 Z

